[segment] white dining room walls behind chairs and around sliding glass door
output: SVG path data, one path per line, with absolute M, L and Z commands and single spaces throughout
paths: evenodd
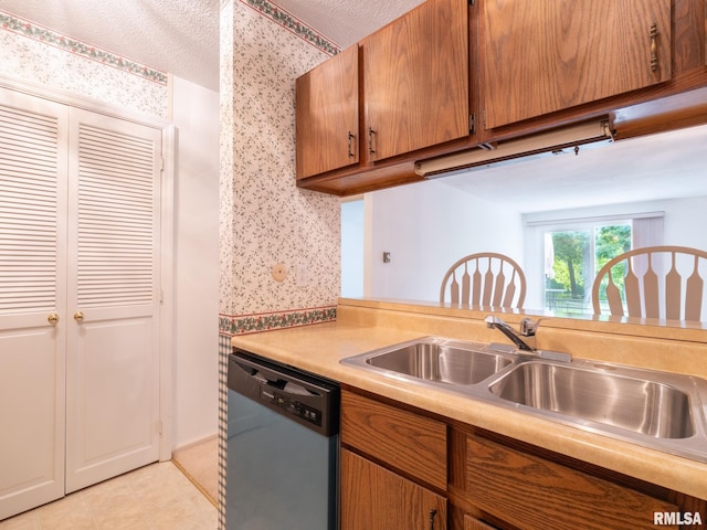
M 442 276 L 460 257 L 499 252 L 526 273 L 525 307 L 542 307 L 542 226 L 526 222 L 664 212 L 664 244 L 707 248 L 707 197 L 557 210 L 523 215 L 498 203 L 446 186 L 444 180 L 377 191 L 366 195 L 366 296 L 410 300 L 439 299 Z M 382 262 L 390 252 L 391 262 Z M 536 285 L 537 284 L 537 285 Z

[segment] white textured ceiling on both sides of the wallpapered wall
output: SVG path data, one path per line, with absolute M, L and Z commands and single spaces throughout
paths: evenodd
M 272 3 L 344 49 L 421 2 Z M 219 89 L 220 4 L 221 0 L 0 0 L 3 11 L 213 91 Z

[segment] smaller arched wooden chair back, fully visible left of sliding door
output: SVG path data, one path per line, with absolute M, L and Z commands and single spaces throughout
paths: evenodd
M 440 303 L 523 308 L 526 276 L 520 266 L 503 254 L 484 252 L 457 261 L 444 275 Z

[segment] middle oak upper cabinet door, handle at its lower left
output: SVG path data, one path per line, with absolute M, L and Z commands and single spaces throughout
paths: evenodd
M 467 0 L 429 0 L 362 47 L 370 160 L 468 136 Z

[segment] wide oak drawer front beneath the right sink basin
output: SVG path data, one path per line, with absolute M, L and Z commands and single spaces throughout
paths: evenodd
M 524 530 L 654 529 L 654 512 L 679 511 L 675 505 L 473 435 L 466 438 L 466 491 L 475 506 Z

